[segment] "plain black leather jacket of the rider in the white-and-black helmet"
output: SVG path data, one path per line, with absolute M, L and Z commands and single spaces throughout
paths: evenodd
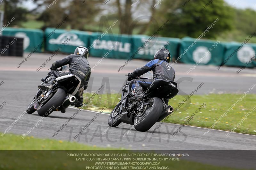
M 84 85 L 85 90 L 88 86 L 89 78 L 91 76 L 91 68 L 87 58 L 82 55 L 76 54 L 68 55 L 62 60 L 57 60 L 53 62 L 52 70 L 56 70 L 57 68 L 67 64 L 69 65 L 69 71 L 82 80 L 81 85 Z

